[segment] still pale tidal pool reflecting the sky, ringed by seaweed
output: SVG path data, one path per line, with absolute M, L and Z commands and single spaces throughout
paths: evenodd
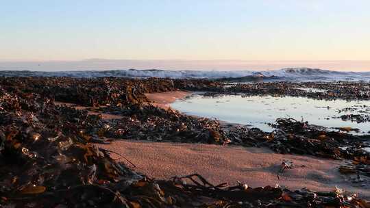
M 358 112 L 367 114 L 369 106 L 370 101 L 322 101 L 293 96 L 224 95 L 210 97 L 201 94 L 192 94 L 171 104 L 171 107 L 186 114 L 251 125 L 264 131 L 272 131 L 273 129 L 267 123 L 283 117 L 305 120 L 310 124 L 330 128 L 356 128 L 362 133 L 370 131 L 369 122 L 357 123 L 334 117 L 357 113 L 343 112 L 343 109 L 347 107 L 356 108 Z

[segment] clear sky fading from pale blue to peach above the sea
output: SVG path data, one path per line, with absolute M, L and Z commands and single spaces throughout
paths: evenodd
M 0 1 L 0 70 L 101 69 L 96 60 L 112 68 L 309 62 L 370 70 L 369 8 L 368 0 Z

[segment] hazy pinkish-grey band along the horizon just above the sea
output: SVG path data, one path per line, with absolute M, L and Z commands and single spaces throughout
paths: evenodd
M 0 70 L 70 71 L 120 70 L 135 68 L 162 70 L 278 70 L 282 68 L 321 68 L 339 71 L 369 71 L 370 60 L 50 60 L 1 61 Z

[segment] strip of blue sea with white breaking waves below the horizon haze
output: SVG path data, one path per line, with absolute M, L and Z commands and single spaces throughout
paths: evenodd
M 370 72 L 338 72 L 319 68 L 282 68 L 280 70 L 80 70 L 80 71 L 0 71 L 5 77 L 165 77 L 208 78 L 223 81 L 370 81 Z

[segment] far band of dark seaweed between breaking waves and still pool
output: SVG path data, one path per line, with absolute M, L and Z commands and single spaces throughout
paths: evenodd
M 304 96 L 311 99 L 369 100 L 369 82 L 255 82 L 223 83 L 209 79 L 130 79 L 123 77 L 0 77 L 5 86 L 53 95 L 58 101 L 81 105 L 106 105 L 117 101 L 141 103 L 144 93 L 169 90 L 206 91 L 213 94 Z M 305 90 L 306 89 L 306 90 Z M 314 89 L 314 90 L 310 90 Z

